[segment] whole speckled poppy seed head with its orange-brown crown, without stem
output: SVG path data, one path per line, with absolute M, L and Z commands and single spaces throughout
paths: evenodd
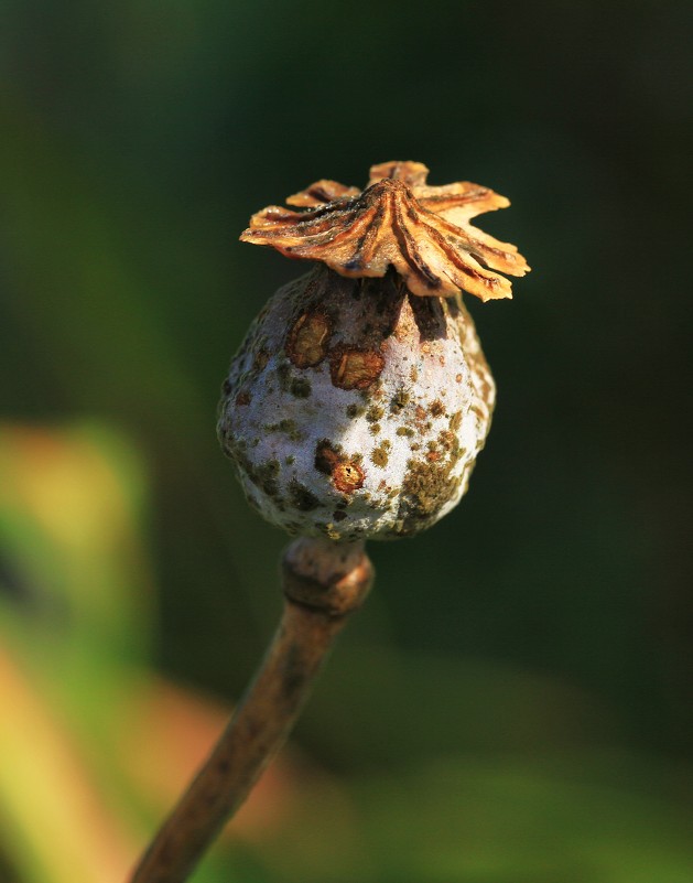
M 465 493 L 495 385 L 461 292 L 511 297 L 513 246 L 469 224 L 508 201 L 420 163 L 362 193 L 318 181 L 241 239 L 318 261 L 256 319 L 224 385 L 219 438 L 250 504 L 290 534 L 392 539 Z

